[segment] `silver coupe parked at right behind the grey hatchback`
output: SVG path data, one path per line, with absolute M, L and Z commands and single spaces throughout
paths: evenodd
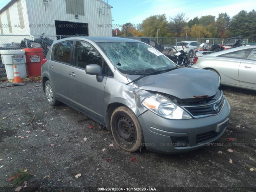
M 216 72 L 223 85 L 256 90 L 256 46 L 241 46 L 201 56 L 198 52 L 192 67 Z

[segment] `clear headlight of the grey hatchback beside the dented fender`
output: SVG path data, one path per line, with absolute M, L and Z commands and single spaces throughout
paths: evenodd
M 192 119 L 186 111 L 171 100 L 155 94 L 148 96 L 142 101 L 142 105 L 150 111 L 168 119 Z

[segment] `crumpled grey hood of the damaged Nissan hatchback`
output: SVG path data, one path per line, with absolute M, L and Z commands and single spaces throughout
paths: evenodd
M 218 75 L 208 70 L 179 68 L 146 76 L 135 85 L 143 90 L 166 93 L 180 99 L 214 96 L 218 90 Z

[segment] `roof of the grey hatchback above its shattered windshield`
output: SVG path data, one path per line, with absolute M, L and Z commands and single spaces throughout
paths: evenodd
M 66 41 L 66 40 L 84 40 L 88 39 L 94 41 L 96 43 L 101 42 L 140 42 L 138 40 L 128 39 L 128 38 L 120 38 L 120 37 L 84 37 L 84 36 L 73 36 L 69 38 L 64 38 L 58 40 L 58 42 Z M 57 42 L 57 41 L 56 41 Z

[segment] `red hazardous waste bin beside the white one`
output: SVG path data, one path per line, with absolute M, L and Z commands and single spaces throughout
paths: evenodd
M 42 48 L 26 48 L 26 68 L 29 77 L 41 76 L 41 61 L 44 59 Z

